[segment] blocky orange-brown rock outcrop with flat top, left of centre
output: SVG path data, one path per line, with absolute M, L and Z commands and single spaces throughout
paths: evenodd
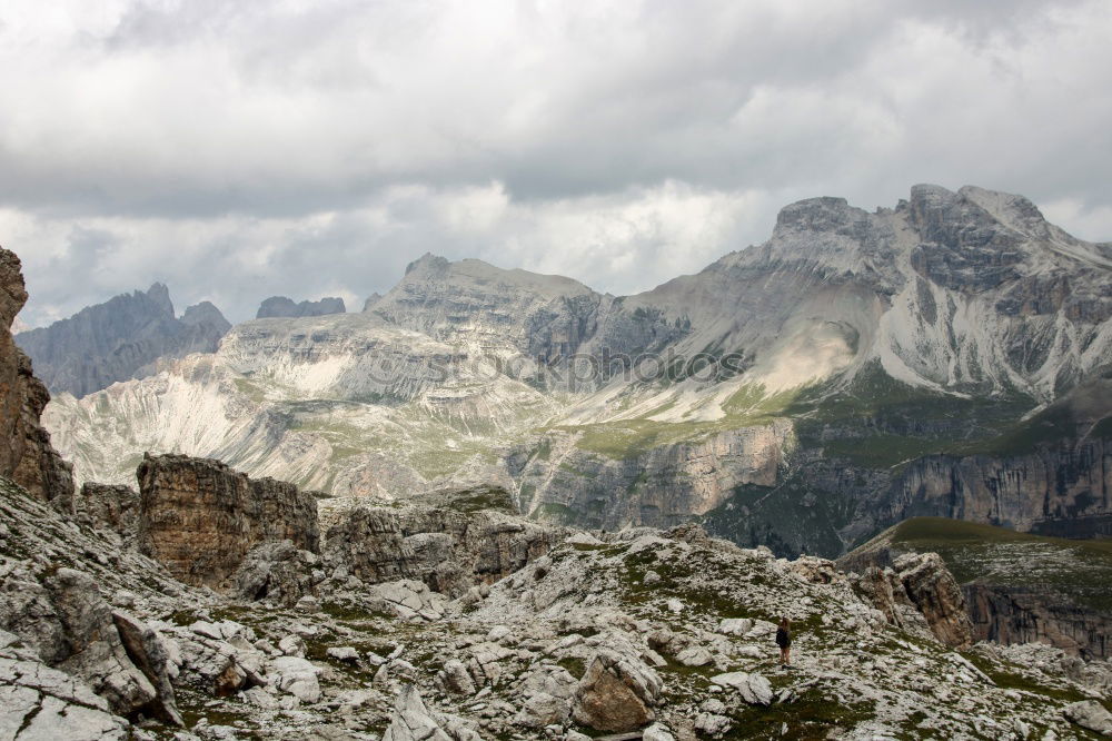
M 137 476 L 139 547 L 186 583 L 228 586 L 258 543 L 319 546 L 316 500 L 292 484 L 183 455 L 147 455 Z

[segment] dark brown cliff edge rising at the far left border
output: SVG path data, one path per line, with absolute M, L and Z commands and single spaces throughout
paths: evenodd
M 10 476 L 33 496 L 67 510 L 72 507 L 73 498 L 70 466 L 51 446 L 50 434 L 39 423 L 50 394 L 8 332 L 24 302 L 19 258 L 0 248 L 0 437 L 7 441 L 0 445 L 0 475 Z

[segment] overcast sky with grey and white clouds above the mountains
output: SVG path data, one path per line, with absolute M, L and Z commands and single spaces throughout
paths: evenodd
M 1110 240 L 1109 39 L 1106 0 L 6 0 L 0 244 L 40 325 L 358 308 L 425 251 L 632 293 L 915 182 Z

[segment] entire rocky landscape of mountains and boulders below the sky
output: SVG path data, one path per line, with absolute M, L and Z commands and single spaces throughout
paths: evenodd
M 156 284 L 12 337 L 21 270 L 0 739 L 1112 737 L 1112 245 L 1021 197 L 237 326 Z

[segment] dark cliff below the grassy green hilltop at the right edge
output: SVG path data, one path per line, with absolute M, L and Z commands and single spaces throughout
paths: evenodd
M 973 635 L 994 643 L 1048 643 L 1070 654 L 1106 659 L 1112 616 L 1086 610 L 1040 587 L 966 584 Z

